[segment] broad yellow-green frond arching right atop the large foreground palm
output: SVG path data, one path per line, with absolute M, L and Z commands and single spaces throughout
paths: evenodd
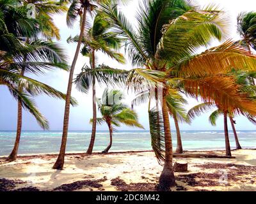
M 218 9 L 188 11 L 164 25 L 163 37 L 157 46 L 157 57 L 175 63 L 193 55 L 211 40 L 222 40 L 228 20 Z

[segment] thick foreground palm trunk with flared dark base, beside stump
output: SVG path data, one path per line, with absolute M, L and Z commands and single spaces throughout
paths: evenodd
M 170 187 L 175 186 L 175 177 L 172 165 L 172 136 L 170 128 L 169 113 L 166 104 L 166 94 L 163 93 L 162 113 L 164 122 L 164 142 L 165 142 L 165 161 L 164 168 L 159 178 L 159 187 L 163 191 L 168 191 Z

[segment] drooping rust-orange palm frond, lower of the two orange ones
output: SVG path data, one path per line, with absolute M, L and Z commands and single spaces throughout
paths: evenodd
M 221 110 L 228 110 L 234 115 L 244 112 L 256 113 L 256 103 L 248 94 L 241 92 L 241 86 L 230 76 L 205 77 L 184 80 L 184 89 L 195 98 L 202 98 L 205 103 L 215 103 Z

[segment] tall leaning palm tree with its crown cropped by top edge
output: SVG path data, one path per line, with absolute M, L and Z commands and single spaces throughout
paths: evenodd
M 72 80 L 74 75 L 74 69 L 76 67 L 77 58 L 80 52 L 81 43 L 84 36 L 84 29 L 86 25 L 86 13 L 91 13 L 97 6 L 93 3 L 108 3 L 110 4 L 110 0 L 97 0 L 97 1 L 90 1 L 90 0 L 68 0 L 71 4 L 67 11 L 67 25 L 72 27 L 74 21 L 76 20 L 77 16 L 81 17 L 80 22 L 80 34 L 77 40 L 77 47 L 76 53 L 74 54 L 74 59 L 72 61 L 72 65 L 70 68 L 70 74 L 68 78 L 68 87 L 67 87 L 67 99 L 65 103 L 65 113 L 64 113 L 64 120 L 63 120 L 63 133 L 62 133 L 62 140 L 61 140 L 61 147 L 60 147 L 60 154 L 56 160 L 56 163 L 52 167 L 53 169 L 61 170 L 64 166 L 65 160 L 65 150 L 67 145 L 67 136 L 68 136 L 68 121 L 69 121 L 69 112 L 70 112 L 70 96 L 72 92 Z M 64 1 L 65 2 L 65 1 Z

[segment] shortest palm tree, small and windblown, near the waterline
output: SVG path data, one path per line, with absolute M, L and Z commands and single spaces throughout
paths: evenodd
M 118 98 L 118 101 L 115 101 L 116 98 Z M 97 99 L 98 107 L 102 115 L 102 117 L 97 118 L 97 123 L 102 124 L 106 122 L 109 129 L 110 142 L 103 153 L 108 153 L 109 149 L 111 149 L 113 142 L 113 126 L 120 127 L 120 124 L 125 124 L 126 126 L 143 128 L 138 122 L 137 113 L 124 105 L 121 98 L 123 99 L 122 92 L 105 89 L 102 98 Z M 93 119 L 91 119 L 91 122 L 93 122 Z

